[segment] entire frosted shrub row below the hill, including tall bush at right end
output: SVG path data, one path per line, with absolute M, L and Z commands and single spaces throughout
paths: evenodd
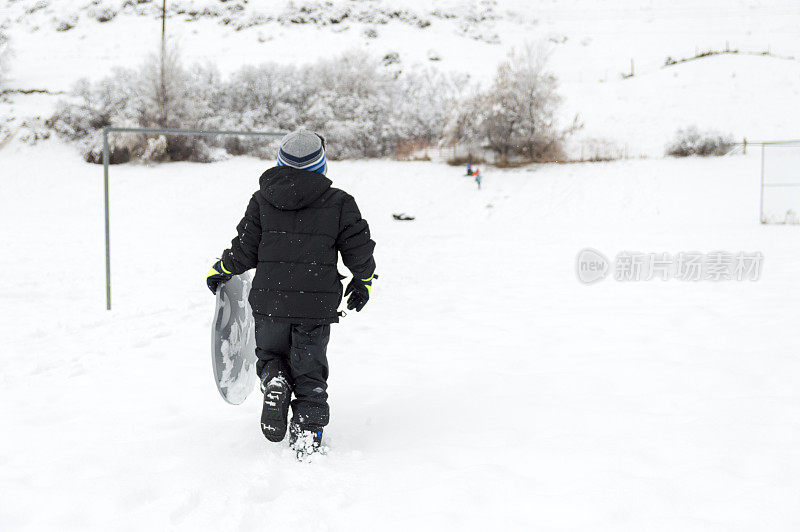
M 291 131 L 327 139 L 332 159 L 413 158 L 434 144 L 490 152 L 499 165 L 566 159 L 563 143 L 579 126 L 562 127 L 555 76 L 546 54 L 530 46 L 512 53 L 485 90 L 467 76 L 429 69 L 397 71 L 361 52 L 294 66 L 245 66 L 227 79 L 213 67 L 184 67 L 168 50 L 164 74 L 152 57 L 139 69 L 116 69 L 96 83 L 79 82 L 48 125 L 82 144 L 100 162 L 106 126 L 204 130 Z M 111 159 L 211 161 L 226 154 L 273 157 L 263 138 L 116 135 Z M 493 154 L 493 155 L 492 155 Z

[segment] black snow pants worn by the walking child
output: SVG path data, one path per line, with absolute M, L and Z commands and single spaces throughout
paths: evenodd
M 255 317 L 256 369 L 267 381 L 282 373 L 294 390 L 292 421 L 307 430 L 328 424 L 330 325 L 275 323 Z

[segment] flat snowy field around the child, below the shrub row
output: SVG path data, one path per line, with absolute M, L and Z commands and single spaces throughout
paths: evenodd
M 331 452 L 218 396 L 204 276 L 265 163 L 0 155 L 0 529 L 800 529 L 796 227 L 757 155 L 483 169 L 332 163 L 378 243 L 332 330 Z M 395 222 L 391 214 L 416 215 Z M 761 251 L 758 282 L 580 284 L 586 246 Z

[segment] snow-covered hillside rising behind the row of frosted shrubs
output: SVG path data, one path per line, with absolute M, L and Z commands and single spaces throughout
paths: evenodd
M 9 86 L 68 90 L 157 49 L 157 2 L 5 1 L 0 27 L 12 40 Z M 561 80 L 563 114 L 579 114 L 580 139 L 607 139 L 629 155 L 659 155 L 692 124 L 737 137 L 797 137 L 800 61 L 714 56 L 662 68 L 697 51 L 770 51 L 800 56 L 800 7 L 785 1 L 589 0 L 422 2 L 169 2 L 168 33 L 187 62 L 223 74 L 264 61 L 305 63 L 354 49 L 397 54 L 399 65 L 432 65 L 486 81 L 512 46 L 541 41 Z M 633 61 L 634 77 L 630 73 Z M 5 113 L 47 114 L 52 99 L 7 95 Z M 49 103 L 48 103 L 49 102 Z

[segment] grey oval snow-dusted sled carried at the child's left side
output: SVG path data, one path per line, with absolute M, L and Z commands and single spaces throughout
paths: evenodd
M 249 274 L 234 275 L 219 285 L 211 326 L 211 362 L 222 398 L 242 404 L 255 388 L 256 332 L 247 296 Z

